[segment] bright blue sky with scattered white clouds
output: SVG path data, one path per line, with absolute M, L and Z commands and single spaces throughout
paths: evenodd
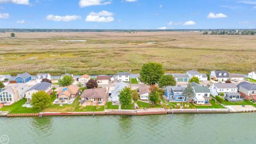
M 255 29 L 256 0 L 0 0 L 0 28 Z

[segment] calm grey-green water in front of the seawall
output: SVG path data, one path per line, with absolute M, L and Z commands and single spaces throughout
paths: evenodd
M 256 143 L 256 114 L 0 118 L 9 143 Z

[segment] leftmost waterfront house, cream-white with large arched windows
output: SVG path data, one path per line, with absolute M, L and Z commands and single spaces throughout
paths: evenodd
M 24 98 L 25 92 L 27 90 L 28 85 L 22 83 L 5 86 L 4 89 L 0 92 L 0 103 L 4 103 L 5 106 L 10 106 L 12 103 Z

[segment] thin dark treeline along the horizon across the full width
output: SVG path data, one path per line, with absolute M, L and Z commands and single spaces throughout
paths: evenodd
M 204 34 L 235 34 L 236 29 L 15 29 L 15 28 L 2 28 L 0 33 L 16 32 L 16 33 L 33 33 L 33 32 L 117 32 L 117 33 L 136 33 L 140 31 L 202 31 Z M 256 29 L 240 29 L 240 31 L 255 31 Z M 245 34 L 242 32 L 241 34 Z

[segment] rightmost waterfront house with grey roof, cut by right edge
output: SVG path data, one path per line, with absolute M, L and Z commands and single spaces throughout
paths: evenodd
M 256 84 L 249 82 L 241 82 L 238 85 L 238 91 L 241 96 L 247 100 L 256 101 Z

